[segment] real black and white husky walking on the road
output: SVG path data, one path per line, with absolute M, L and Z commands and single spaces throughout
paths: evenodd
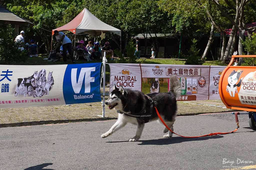
M 147 94 L 153 100 L 153 106 L 155 106 L 159 114 L 164 119 L 168 127 L 173 130 L 173 124 L 176 117 L 177 104 L 176 98 L 180 96 L 181 88 L 180 82 L 175 76 L 171 76 L 169 79 L 170 91 L 167 93 L 151 93 Z M 138 141 L 141 137 L 142 130 L 144 128 L 145 120 L 141 118 L 135 118 L 128 116 L 127 114 L 140 115 L 141 111 L 146 107 L 147 96 L 140 91 L 123 89 L 122 86 L 118 89 L 114 86 L 113 91 L 109 95 L 109 99 L 106 100 L 105 104 L 109 106 L 109 109 L 115 109 L 119 112 L 118 120 L 116 123 L 107 131 L 101 135 L 102 138 L 108 137 L 116 130 L 124 127 L 127 123 L 137 125 L 136 135 L 129 139 L 129 142 Z M 148 113 L 149 114 L 149 113 Z M 157 120 L 157 114 L 153 108 L 153 115 L 151 120 Z M 172 132 L 164 129 L 164 138 L 172 137 Z

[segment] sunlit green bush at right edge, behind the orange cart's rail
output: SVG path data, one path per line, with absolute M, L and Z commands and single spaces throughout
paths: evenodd
M 244 50 L 248 51 L 250 55 L 256 54 L 256 33 L 253 33 L 251 39 L 246 37 L 245 41 L 243 42 Z M 256 58 L 243 58 L 244 63 L 242 66 L 256 66 Z

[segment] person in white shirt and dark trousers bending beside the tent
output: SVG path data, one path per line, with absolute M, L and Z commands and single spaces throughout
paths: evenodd
M 59 32 L 57 30 L 54 31 L 54 35 L 58 42 L 62 41 L 63 52 L 68 50 L 68 53 L 70 54 L 70 58 L 71 58 L 72 62 L 75 62 L 73 55 L 72 55 L 71 40 L 63 32 Z M 64 52 L 62 54 L 62 56 L 63 56 L 63 61 L 66 62 L 67 61 L 67 53 Z

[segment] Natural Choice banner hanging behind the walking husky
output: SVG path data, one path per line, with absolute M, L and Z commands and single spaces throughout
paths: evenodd
M 123 85 L 144 94 L 168 92 L 169 76 L 175 75 L 182 92 L 178 101 L 220 99 L 219 78 L 225 66 L 109 64 L 110 91 Z

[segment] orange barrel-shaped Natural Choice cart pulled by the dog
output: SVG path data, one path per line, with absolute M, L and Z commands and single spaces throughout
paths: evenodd
M 256 66 L 233 66 L 234 59 L 239 57 L 256 55 L 232 55 L 220 76 L 220 98 L 227 108 L 247 111 L 249 125 L 256 130 Z

